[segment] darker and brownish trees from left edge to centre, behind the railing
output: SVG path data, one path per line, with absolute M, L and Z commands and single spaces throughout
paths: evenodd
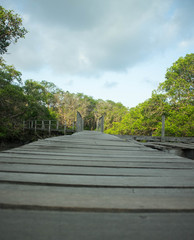
M 21 81 L 21 73 L 0 62 L 0 137 L 19 138 L 24 120 L 59 120 L 71 126 L 79 111 L 84 128 L 95 130 L 99 117 L 105 115 L 106 129 L 120 122 L 128 109 L 121 103 L 95 100 L 82 93 L 69 93 L 47 81 Z

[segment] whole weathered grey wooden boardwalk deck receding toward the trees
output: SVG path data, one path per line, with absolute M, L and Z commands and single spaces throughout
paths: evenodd
M 194 161 L 84 131 L 0 153 L 9 239 L 194 239 Z

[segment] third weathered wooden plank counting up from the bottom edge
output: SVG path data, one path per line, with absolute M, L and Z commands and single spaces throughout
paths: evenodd
M 59 186 L 85 187 L 178 187 L 194 188 L 193 177 L 121 177 L 121 176 L 81 176 L 81 175 L 50 175 L 31 173 L 0 172 L 0 182 L 27 183 Z

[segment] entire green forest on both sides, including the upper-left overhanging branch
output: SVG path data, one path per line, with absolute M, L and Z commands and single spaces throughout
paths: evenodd
M 82 114 L 85 129 L 95 130 L 105 117 L 105 132 L 124 135 L 161 135 L 161 118 L 166 116 L 167 136 L 194 136 L 194 54 L 180 57 L 167 69 L 165 81 L 152 96 L 128 109 L 111 100 L 70 93 L 54 83 L 28 79 L 3 59 L 8 46 L 24 37 L 27 30 L 13 11 L 0 7 L 0 140 L 21 139 L 24 120 L 59 120 L 71 125 Z

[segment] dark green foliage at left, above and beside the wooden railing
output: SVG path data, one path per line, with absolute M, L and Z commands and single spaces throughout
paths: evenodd
M 20 138 L 23 120 L 56 119 L 56 113 L 48 108 L 47 101 L 44 86 L 32 80 L 27 80 L 22 86 L 21 73 L 1 62 L 0 138 Z

